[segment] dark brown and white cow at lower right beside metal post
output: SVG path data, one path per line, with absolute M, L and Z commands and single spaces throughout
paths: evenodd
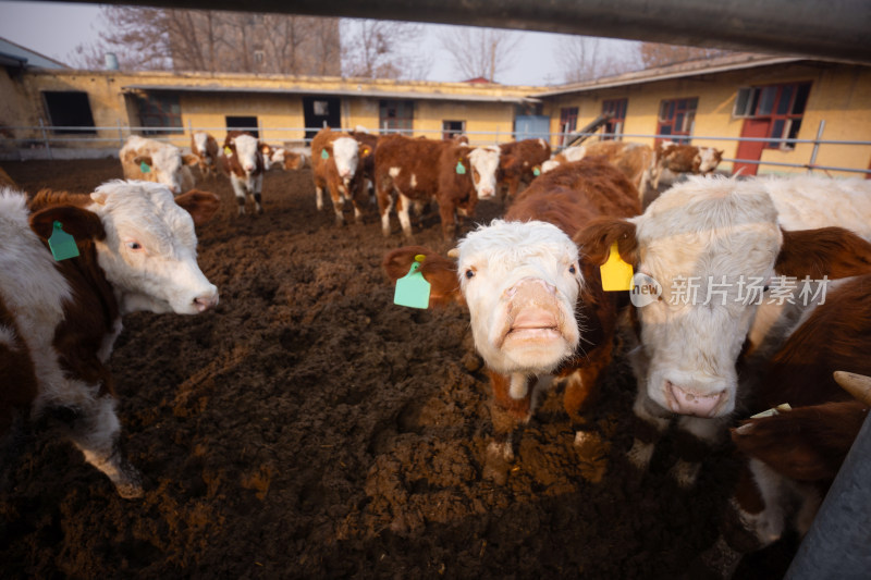
M 747 403 L 748 415 L 783 404 L 792 409 L 732 430 L 743 471 L 723 535 L 703 556 L 709 566 L 734 568 L 741 554 L 778 540 L 792 517 L 805 534 L 866 420 L 871 398 L 854 399 L 838 386 L 837 371 L 871 374 L 871 274 L 833 286 L 768 362 Z

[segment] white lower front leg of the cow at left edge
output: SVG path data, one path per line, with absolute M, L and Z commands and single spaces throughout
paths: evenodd
M 112 480 L 121 497 L 140 497 L 142 476 L 119 447 L 121 424 L 115 415 L 114 397 L 97 397 L 79 407 L 78 411 L 71 425 L 70 439 L 82 451 L 85 460 Z

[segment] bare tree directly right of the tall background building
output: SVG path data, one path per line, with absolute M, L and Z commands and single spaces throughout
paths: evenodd
M 413 42 L 424 26 L 394 21 L 342 21 L 342 74 L 365 78 L 422 78 L 432 61 Z

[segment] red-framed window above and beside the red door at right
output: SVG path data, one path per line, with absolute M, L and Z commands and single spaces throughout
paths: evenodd
M 797 139 L 809 95 L 810 83 L 745 87 L 738 90 L 732 114 L 738 119 L 769 119 L 768 137 Z M 773 140 L 765 148 L 794 149 L 795 145 Z

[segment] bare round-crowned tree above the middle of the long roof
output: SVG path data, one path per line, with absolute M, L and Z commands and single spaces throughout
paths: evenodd
M 512 67 L 523 41 L 511 30 L 467 26 L 450 27 L 438 38 L 464 77 L 483 77 L 491 83 Z

